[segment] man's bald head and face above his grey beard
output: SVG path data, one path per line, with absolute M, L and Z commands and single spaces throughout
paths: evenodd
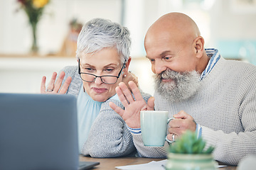
M 151 69 L 159 74 L 166 69 L 176 72 L 203 72 L 209 57 L 196 23 L 186 14 L 167 13 L 152 24 L 144 47 Z

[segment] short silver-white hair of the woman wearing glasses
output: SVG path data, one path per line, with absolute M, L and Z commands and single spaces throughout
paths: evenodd
M 129 35 L 129 30 L 119 23 L 103 18 L 92 19 L 80 31 L 76 57 L 79 59 L 82 53 L 98 52 L 105 47 L 116 47 L 120 60 L 124 63 L 130 55 Z

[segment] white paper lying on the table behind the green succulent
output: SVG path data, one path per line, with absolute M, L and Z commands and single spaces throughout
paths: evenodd
M 149 162 L 147 164 L 136 164 L 136 165 L 127 165 L 127 166 L 116 166 L 117 169 L 122 170 L 165 170 L 167 159 L 164 159 L 159 162 Z M 218 168 L 225 167 L 225 165 L 219 165 Z

